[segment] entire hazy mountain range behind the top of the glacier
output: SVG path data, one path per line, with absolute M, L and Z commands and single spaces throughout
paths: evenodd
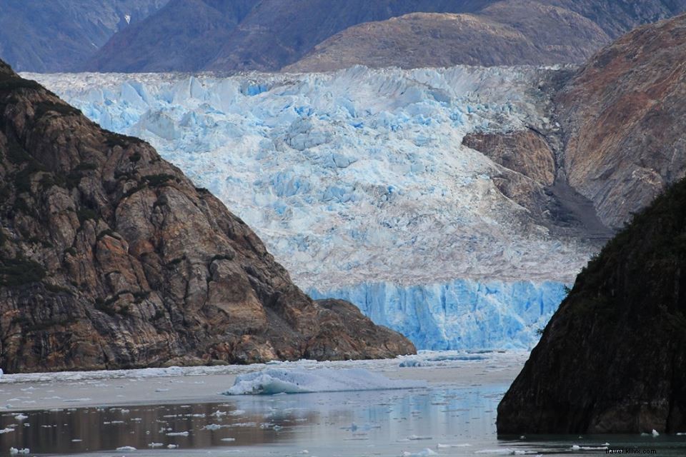
M 0 57 L 39 72 L 581 64 L 682 11 L 686 0 L 5 0 Z

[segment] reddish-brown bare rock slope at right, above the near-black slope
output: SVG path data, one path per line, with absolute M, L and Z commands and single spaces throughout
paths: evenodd
M 686 171 L 686 16 L 603 49 L 557 95 L 570 184 L 615 229 Z

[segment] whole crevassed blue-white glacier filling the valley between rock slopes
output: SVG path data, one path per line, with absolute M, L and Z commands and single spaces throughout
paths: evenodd
M 327 74 L 24 74 L 149 141 L 222 199 L 315 298 L 355 303 L 418 348 L 531 348 L 593 246 L 557 236 L 462 146 L 550 129 L 556 69 Z

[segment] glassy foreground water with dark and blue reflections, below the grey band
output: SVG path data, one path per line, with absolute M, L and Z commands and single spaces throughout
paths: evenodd
M 496 407 L 506 388 L 244 396 L 227 397 L 224 403 L 6 413 L 0 416 L 5 431 L 0 454 L 14 447 L 30 448 L 31 455 L 89 455 L 131 446 L 135 455 L 164 456 L 174 455 L 171 446 L 177 456 L 605 455 L 603 446 L 610 443 L 613 448 L 655 448 L 658 456 L 686 455 L 686 436 L 498 441 Z

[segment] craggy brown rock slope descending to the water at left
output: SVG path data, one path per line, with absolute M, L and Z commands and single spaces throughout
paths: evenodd
M 0 153 L 6 372 L 414 352 L 351 305 L 312 301 L 151 146 L 4 63 Z

